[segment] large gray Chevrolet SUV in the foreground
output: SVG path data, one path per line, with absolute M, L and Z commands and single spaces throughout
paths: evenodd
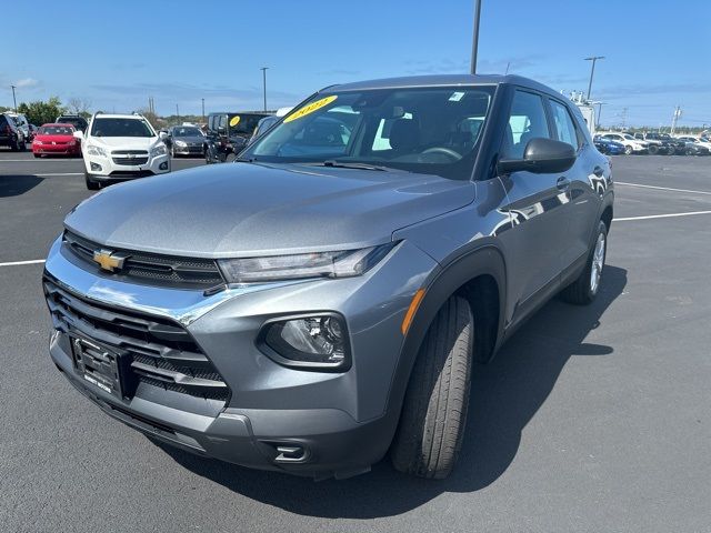
M 580 112 L 537 82 L 330 87 L 233 164 L 74 208 L 43 275 L 51 358 L 193 453 L 444 477 L 472 368 L 552 295 L 595 298 L 612 203 Z

